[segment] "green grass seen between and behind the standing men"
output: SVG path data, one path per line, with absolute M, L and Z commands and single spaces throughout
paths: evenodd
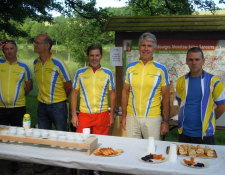
M 110 65 L 110 47 L 113 47 L 113 45 L 105 45 L 103 47 L 103 59 L 101 61 L 101 65 L 103 67 L 107 67 L 110 70 L 112 70 L 114 76 L 115 76 L 115 67 Z M 56 52 L 57 49 L 57 52 Z M 52 52 L 54 55 L 58 56 L 59 58 L 62 58 L 71 75 L 71 80 L 73 81 L 75 72 L 80 68 L 78 63 L 75 63 L 73 61 L 68 62 L 67 61 L 67 53 L 64 51 L 63 46 L 54 46 L 52 49 Z M 57 55 L 58 54 L 58 55 Z M 3 56 L 3 53 L 0 52 L 0 57 Z M 34 76 L 34 69 L 33 69 L 33 61 L 35 58 L 38 57 L 37 54 L 33 52 L 33 46 L 32 45 L 18 45 L 18 53 L 17 56 L 20 60 L 25 62 L 29 68 L 31 69 L 32 72 L 32 77 L 33 77 L 33 90 L 26 96 L 26 108 L 27 108 L 27 113 L 31 115 L 31 124 L 32 126 L 36 125 L 38 123 L 37 120 L 37 107 L 38 107 L 38 100 L 37 100 L 37 95 L 38 95 L 38 87 L 36 83 L 36 79 Z M 72 60 L 72 58 L 71 58 Z M 78 99 L 79 100 L 79 99 Z M 68 98 L 68 102 L 70 102 L 70 97 Z M 71 114 L 71 113 L 70 113 Z M 71 115 L 70 115 L 71 118 Z M 172 126 L 170 127 L 172 128 Z M 165 138 L 166 141 L 178 141 L 178 132 L 177 128 L 171 130 Z M 215 133 L 215 142 L 217 145 L 225 145 L 225 131 L 220 131 L 217 130 Z

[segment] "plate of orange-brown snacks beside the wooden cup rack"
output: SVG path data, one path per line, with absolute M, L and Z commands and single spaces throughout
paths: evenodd
M 112 148 L 104 148 L 104 147 L 99 147 L 96 149 L 93 154 L 95 156 L 102 156 L 102 157 L 114 157 L 118 156 L 123 153 L 122 149 L 112 149 Z

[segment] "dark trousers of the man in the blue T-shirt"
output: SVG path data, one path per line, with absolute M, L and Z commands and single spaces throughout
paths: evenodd
M 203 137 L 202 139 L 202 137 L 189 137 L 184 134 L 179 134 L 178 141 L 183 143 L 215 145 L 214 136 Z

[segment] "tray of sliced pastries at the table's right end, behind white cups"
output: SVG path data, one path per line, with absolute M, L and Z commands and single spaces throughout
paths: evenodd
M 216 151 L 210 148 L 208 145 L 203 147 L 202 145 L 189 145 L 181 144 L 177 145 L 178 156 L 200 157 L 200 158 L 217 158 Z M 166 149 L 166 153 L 169 154 L 170 147 Z

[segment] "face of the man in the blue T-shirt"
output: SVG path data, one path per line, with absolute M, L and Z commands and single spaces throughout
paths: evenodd
M 186 63 L 190 69 L 191 76 L 198 77 L 202 75 L 202 66 L 205 63 L 205 59 L 202 58 L 201 52 L 189 52 Z

